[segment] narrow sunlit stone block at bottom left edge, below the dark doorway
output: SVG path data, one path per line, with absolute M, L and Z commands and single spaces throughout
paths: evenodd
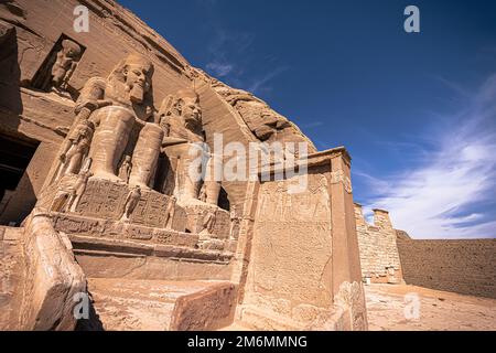
M 0 226 L 0 330 L 19 330 L 23 297 L 23 228 Z

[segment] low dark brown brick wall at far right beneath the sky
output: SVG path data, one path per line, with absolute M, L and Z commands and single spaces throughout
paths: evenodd
M 414 240 L 398 237 L 408 285 L 496 298 L 496 239 Z

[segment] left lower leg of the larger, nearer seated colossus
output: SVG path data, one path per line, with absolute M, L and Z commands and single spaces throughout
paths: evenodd
M 126 108 L 110 106 L 95 114 L 99 126 L 95 131 L 89 156 L 95 178 L 120 181 L 116 175 L 117 164 L 128 145 L 134 125 L 134 114 Z

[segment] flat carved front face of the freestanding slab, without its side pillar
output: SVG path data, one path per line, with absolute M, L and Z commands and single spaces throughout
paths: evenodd
M 291 193 L 294 181 L 260 186 L 247 288 L 247 298 L 262 296 L 270 310 L 290 318 L 300 304 L 324 308 L 332 302 L 328 168 L 309 173 L 301 193 Z

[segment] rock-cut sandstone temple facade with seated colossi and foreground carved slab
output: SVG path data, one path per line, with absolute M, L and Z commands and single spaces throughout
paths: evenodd
M 115 1 L 2 3 L 0 44 L 1 329 L 367 329 L 344 148 L 317 152 Z M 208 178 L 223 146 L 273 142 L 305 147 L 284 154 L 299 173 Z

